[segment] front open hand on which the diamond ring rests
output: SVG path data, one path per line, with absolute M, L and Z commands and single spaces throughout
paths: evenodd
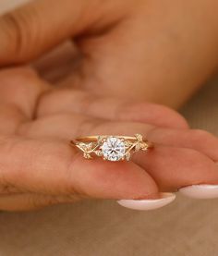
M 0 73 L 0 102 L 2 210 L 83 198 L 155 199 L 160 191 L 218 183 L 217 139 L 188 129 L 166 107 L 54 90 L 27 68 Z M 129 163 L 88 161 L 68 145 L 79 135 L 136 132 L 156 145 Z

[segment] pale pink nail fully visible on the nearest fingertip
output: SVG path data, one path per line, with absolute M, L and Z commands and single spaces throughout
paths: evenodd
M 155 200 L 119 200 L 117 201 L 120 205 L 129 209 L 149 211 L 161 208 L 176 199 L 176 195 L 173 193 L 161 193 L 160 199 Z

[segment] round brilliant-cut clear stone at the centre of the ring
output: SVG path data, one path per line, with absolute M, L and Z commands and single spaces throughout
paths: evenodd
M 109 161 L 119 161 L 125 156 L 125 143 L 116 137 L 109 137 L 102 145 L 103 157 Z

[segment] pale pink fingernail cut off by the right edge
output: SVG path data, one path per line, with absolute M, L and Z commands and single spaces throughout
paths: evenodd
M 192 185 L 179 189 L 179 192 L 194 199 L 218 198 L 218 185 Z

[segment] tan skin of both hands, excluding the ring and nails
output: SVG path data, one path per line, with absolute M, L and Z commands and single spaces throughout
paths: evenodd
M 217 184 L 217 138 L 189 129 L 182 116 L 159 105 L 182 104 L 215 70 L 216 2 L 199 1 L 197 8 L 195 1 L 61 3 L 34 1 L 0 18 L 1 66 L 31 62 L 41 73 L 0 72 L 0 209 L 154 199 L 161 191 Z M 184 12 L 187 24 L 199 28 L 194 35 L 193 27 L 179 26 Z M 211 30 L 205 31 L 206 18 Z M 36 62 L 69 38 L 76 49 L 63 46 Z M 155 148 L 130 163 L 88 161 L 68 145 L 81 135 L 136 131 Z

